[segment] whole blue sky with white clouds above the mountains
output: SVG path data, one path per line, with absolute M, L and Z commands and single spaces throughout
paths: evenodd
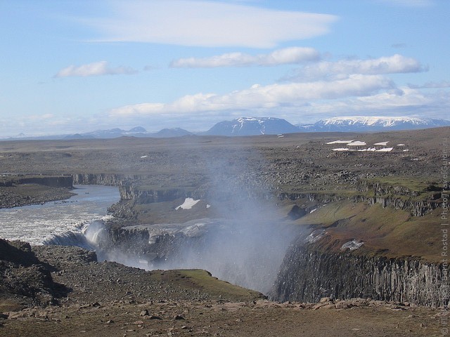
M 0 138 L 450 119 L 448 0 L 0 0 Z

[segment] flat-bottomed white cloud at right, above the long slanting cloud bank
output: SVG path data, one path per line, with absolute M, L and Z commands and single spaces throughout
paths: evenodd
M 395 54 L 382 58 L 369 60 L 338 60 L 336 62 L 322 61 L 295 71 L 295 74 L 288 79 L 304 80 L 321 77 L 333 77 L 342 74 L 394 74 L 407 72 L 423 72 L 427 68 L 414 58 L 406 58 L 403 55 Z

